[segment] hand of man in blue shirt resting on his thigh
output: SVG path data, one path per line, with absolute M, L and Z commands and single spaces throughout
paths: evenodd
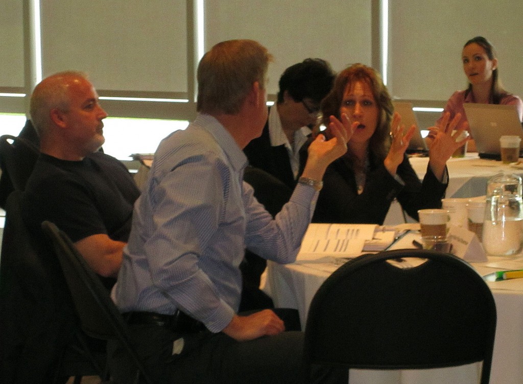
M 254 340 L 261 336 L 274 336 L 285 331 L 283 321 L 270 309 L 248 316 L 234 315 L 222 332 L 237 341 Z

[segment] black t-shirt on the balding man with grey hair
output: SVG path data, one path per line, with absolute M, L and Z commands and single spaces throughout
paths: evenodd
M 28 230 L 44 244 L 44 220 L 73 242 L 95 234 L 127 242 L 139 195 L 131 174 L 114 157 L 96 152 L 82 161 L 65 161 L 42 153 L 22 195 L 21 213 Z

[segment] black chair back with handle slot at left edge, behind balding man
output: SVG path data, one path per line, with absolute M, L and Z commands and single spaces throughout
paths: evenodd
M 0 167 L 14 189 L 24 190 L 38 159 L 39 149 L 28 140 L 9 134 L 0 137 Z

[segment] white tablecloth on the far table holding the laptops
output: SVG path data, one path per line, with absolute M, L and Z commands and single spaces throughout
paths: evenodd
M 411 157 L 410 162 L 419 179 L 423 179 L 427 172 L 428 157 Z M 446 197 L 476 197 L 485 195 L 488 178 L 498 172 L 523 174 L 523 170 L 501 161 L 480 159 L 477 153 L 467 153 L 461 159 L 449 159 L 449 186 Z M 412 221 L 412 220 L 407 220 Z M 393 201 L 386 225 L 395 225 L 404 222 L 399 202 Z M 523 380 L 522 380 L 523 382 Z

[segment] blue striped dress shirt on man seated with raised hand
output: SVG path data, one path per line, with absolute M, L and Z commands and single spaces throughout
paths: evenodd
M 278 263 L 295 260 L 316 191 L 299 184 L 272 220 L 243 182 L 246 163 L 209 115 L 162 140 L 112 291 L 121 312 L 180 309 L 219 332 L 238 310 L 245 247 Z

